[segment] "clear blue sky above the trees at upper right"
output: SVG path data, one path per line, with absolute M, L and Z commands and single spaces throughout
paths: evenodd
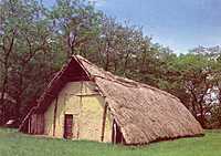
M 221 44 L 221 0 L 91 1 L 119 22 L 143 27 L 154 42 L 170 46 L 176 53 Z

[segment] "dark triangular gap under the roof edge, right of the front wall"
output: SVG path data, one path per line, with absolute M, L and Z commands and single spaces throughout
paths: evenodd
M 123 136 L 120 128 L 117 125 L 115 119 L 113 121 L 112 143 L 114 143 L 114 144 L 125 144 L 124 136 Z

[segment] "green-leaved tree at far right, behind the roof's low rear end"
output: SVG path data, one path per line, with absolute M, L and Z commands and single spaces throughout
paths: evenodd
M 170 74 L 167 74 L 165 82 L 166 90 L 178 96 L 201 125 L 207 127 L 207 116 L 211 114 L 218 97 L 215 95 L 214 98 L 212 94 L 219 86 L 220 66 L 217 56 L 200 50 L 194 49 L 168 61 L 167 70 Z

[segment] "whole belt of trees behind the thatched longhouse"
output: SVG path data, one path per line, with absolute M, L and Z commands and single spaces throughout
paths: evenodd
M 36 0 L 0 1 L 0 124 L 19 124 L 73 54 L 170 92 L 203 127 L 221 127 L 220 46 L 177 55 L 84 0 L 57 0 L 52 8 Z

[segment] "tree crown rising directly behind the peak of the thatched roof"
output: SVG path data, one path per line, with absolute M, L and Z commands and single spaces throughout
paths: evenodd
M 53 21 L 52 31 L 66 53 L 66 60 L 73 54 L 86 55 L 84 48 L 98 33 L 101 13 L 85 1 L 57 0 L 49 17 Z

